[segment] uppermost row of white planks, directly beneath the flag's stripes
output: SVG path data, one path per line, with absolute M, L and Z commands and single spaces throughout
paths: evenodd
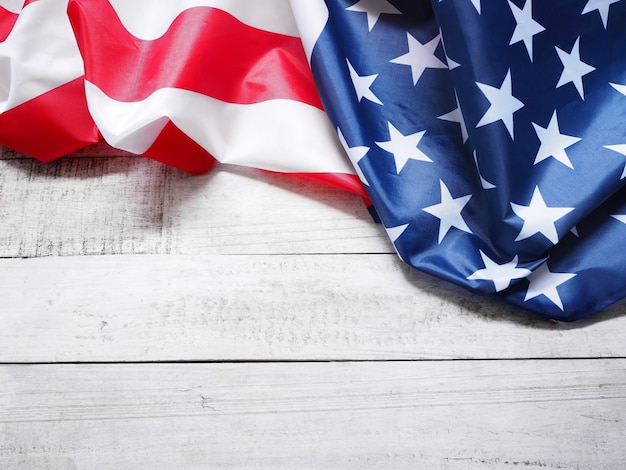
M 191 176 L 141 157 L 0 160 L 0 257 L 389 253 L 357 196 L 224 167 Z

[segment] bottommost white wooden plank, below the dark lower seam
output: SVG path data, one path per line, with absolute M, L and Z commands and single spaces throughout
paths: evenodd
M 0 367 L 32 469 L 623 469 L 626 361 Z

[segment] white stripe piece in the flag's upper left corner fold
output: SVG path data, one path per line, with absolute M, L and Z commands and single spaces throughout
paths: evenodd
M 20 13 L 0 43 L 0 113 L 83 75 L 67 0 L 41 0 Z

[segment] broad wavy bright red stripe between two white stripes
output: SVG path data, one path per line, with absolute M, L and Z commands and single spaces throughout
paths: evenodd
M 229 103 L 284 98 L 322 108 L 299 38 L 210 7 L 185 10 L 151 41 L 131 35 L 108 2 L 71 0 L 68 13 L 86 79 L 115 100 L 172 87 Z

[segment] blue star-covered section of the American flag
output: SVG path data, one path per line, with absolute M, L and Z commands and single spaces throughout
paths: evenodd
M 305 3 L 322 102 L 405 262 L 559 320 L 626 294 L 625 1 Z

